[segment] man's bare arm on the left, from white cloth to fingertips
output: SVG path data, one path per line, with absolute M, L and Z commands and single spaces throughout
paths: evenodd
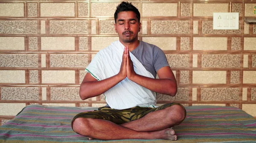
M 82 100 L 105 93 L 126 78 L 126 51 L 123 52 L 122 64 L 117 75 L 97 81 L 90 73 L 86 73 L 80 85 L 79 95 Z

